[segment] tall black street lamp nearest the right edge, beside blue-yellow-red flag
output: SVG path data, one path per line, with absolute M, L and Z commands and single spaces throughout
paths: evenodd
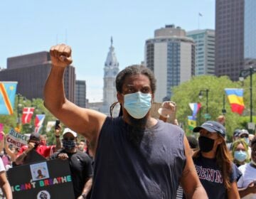
M 252 123 L 252 74 L 256 72 L 256 68 L 252 68 L 252 65 L 250 68 L 241 70 L 239 75 L 239 80 L 243 81 L 245 80 L 245 77 L 250 75 L 250 123 Z

